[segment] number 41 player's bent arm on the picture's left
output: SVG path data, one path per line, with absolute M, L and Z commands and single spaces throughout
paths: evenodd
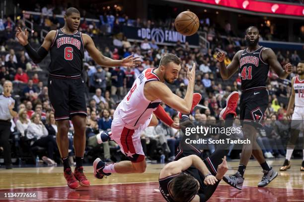
M 239 56 L 241 54 L 242 50 L 239 50 L 235 53 L 235 55 L 232 58 L 232 61 L 228 66 L 225 65 L 225 57 L 226 54 L 222 51 L 218 52 L 217 54 L 217 60 L 220 62 L 220 73 L 223 80 L 229 79 L 237 70 L 239 67 Z

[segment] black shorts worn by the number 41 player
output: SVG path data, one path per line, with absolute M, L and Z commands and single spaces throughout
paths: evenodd
M 268 92 L 265 89 L 245 91 L 240 98 L 241 124 L 253 124 L 255 127 L 263 126 L 265 111 L 268 106 Z

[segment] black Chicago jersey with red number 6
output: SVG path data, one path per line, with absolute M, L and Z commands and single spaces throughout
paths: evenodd
M 67 34 L 62 29 L 56 30 L 56 36 L 51 45 L 51 74 L 75 76 L 82 72 L 84 46 L 82 34 L 78 30 Z

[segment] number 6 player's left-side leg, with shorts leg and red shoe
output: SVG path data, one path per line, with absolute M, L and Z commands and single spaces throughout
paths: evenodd
M 77 189 L 79 183 L 76 180 L 69 164 L 69 84 L 65 79 L 49 77 L 48 94 L 58 125 L 56 142 L 64 165 L 64 176 L 71 189 Z

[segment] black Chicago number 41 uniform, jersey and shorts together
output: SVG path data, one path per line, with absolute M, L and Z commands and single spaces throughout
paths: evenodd
M 239 72 L 242 95 L 240 97 L 240 120 L 242 123 L 254 122 L 262 126 L 264 113 L 268 106 L 266 80 L 269 64 L 262 58 L 265 47 L 249 52 L 245 49 L 239 56 Z

